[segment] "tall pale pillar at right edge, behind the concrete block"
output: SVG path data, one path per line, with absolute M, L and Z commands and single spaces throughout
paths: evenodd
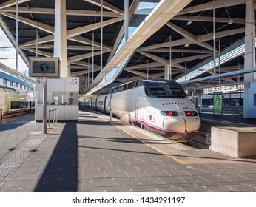
M 245 25 L 245 59 L 244 69 L 255 67 L 255 1 L 246 0 L 246 25 Z M 256 84 L 256 73 L 244 75 L 243 118 L 256 118 L 253 92 Z

